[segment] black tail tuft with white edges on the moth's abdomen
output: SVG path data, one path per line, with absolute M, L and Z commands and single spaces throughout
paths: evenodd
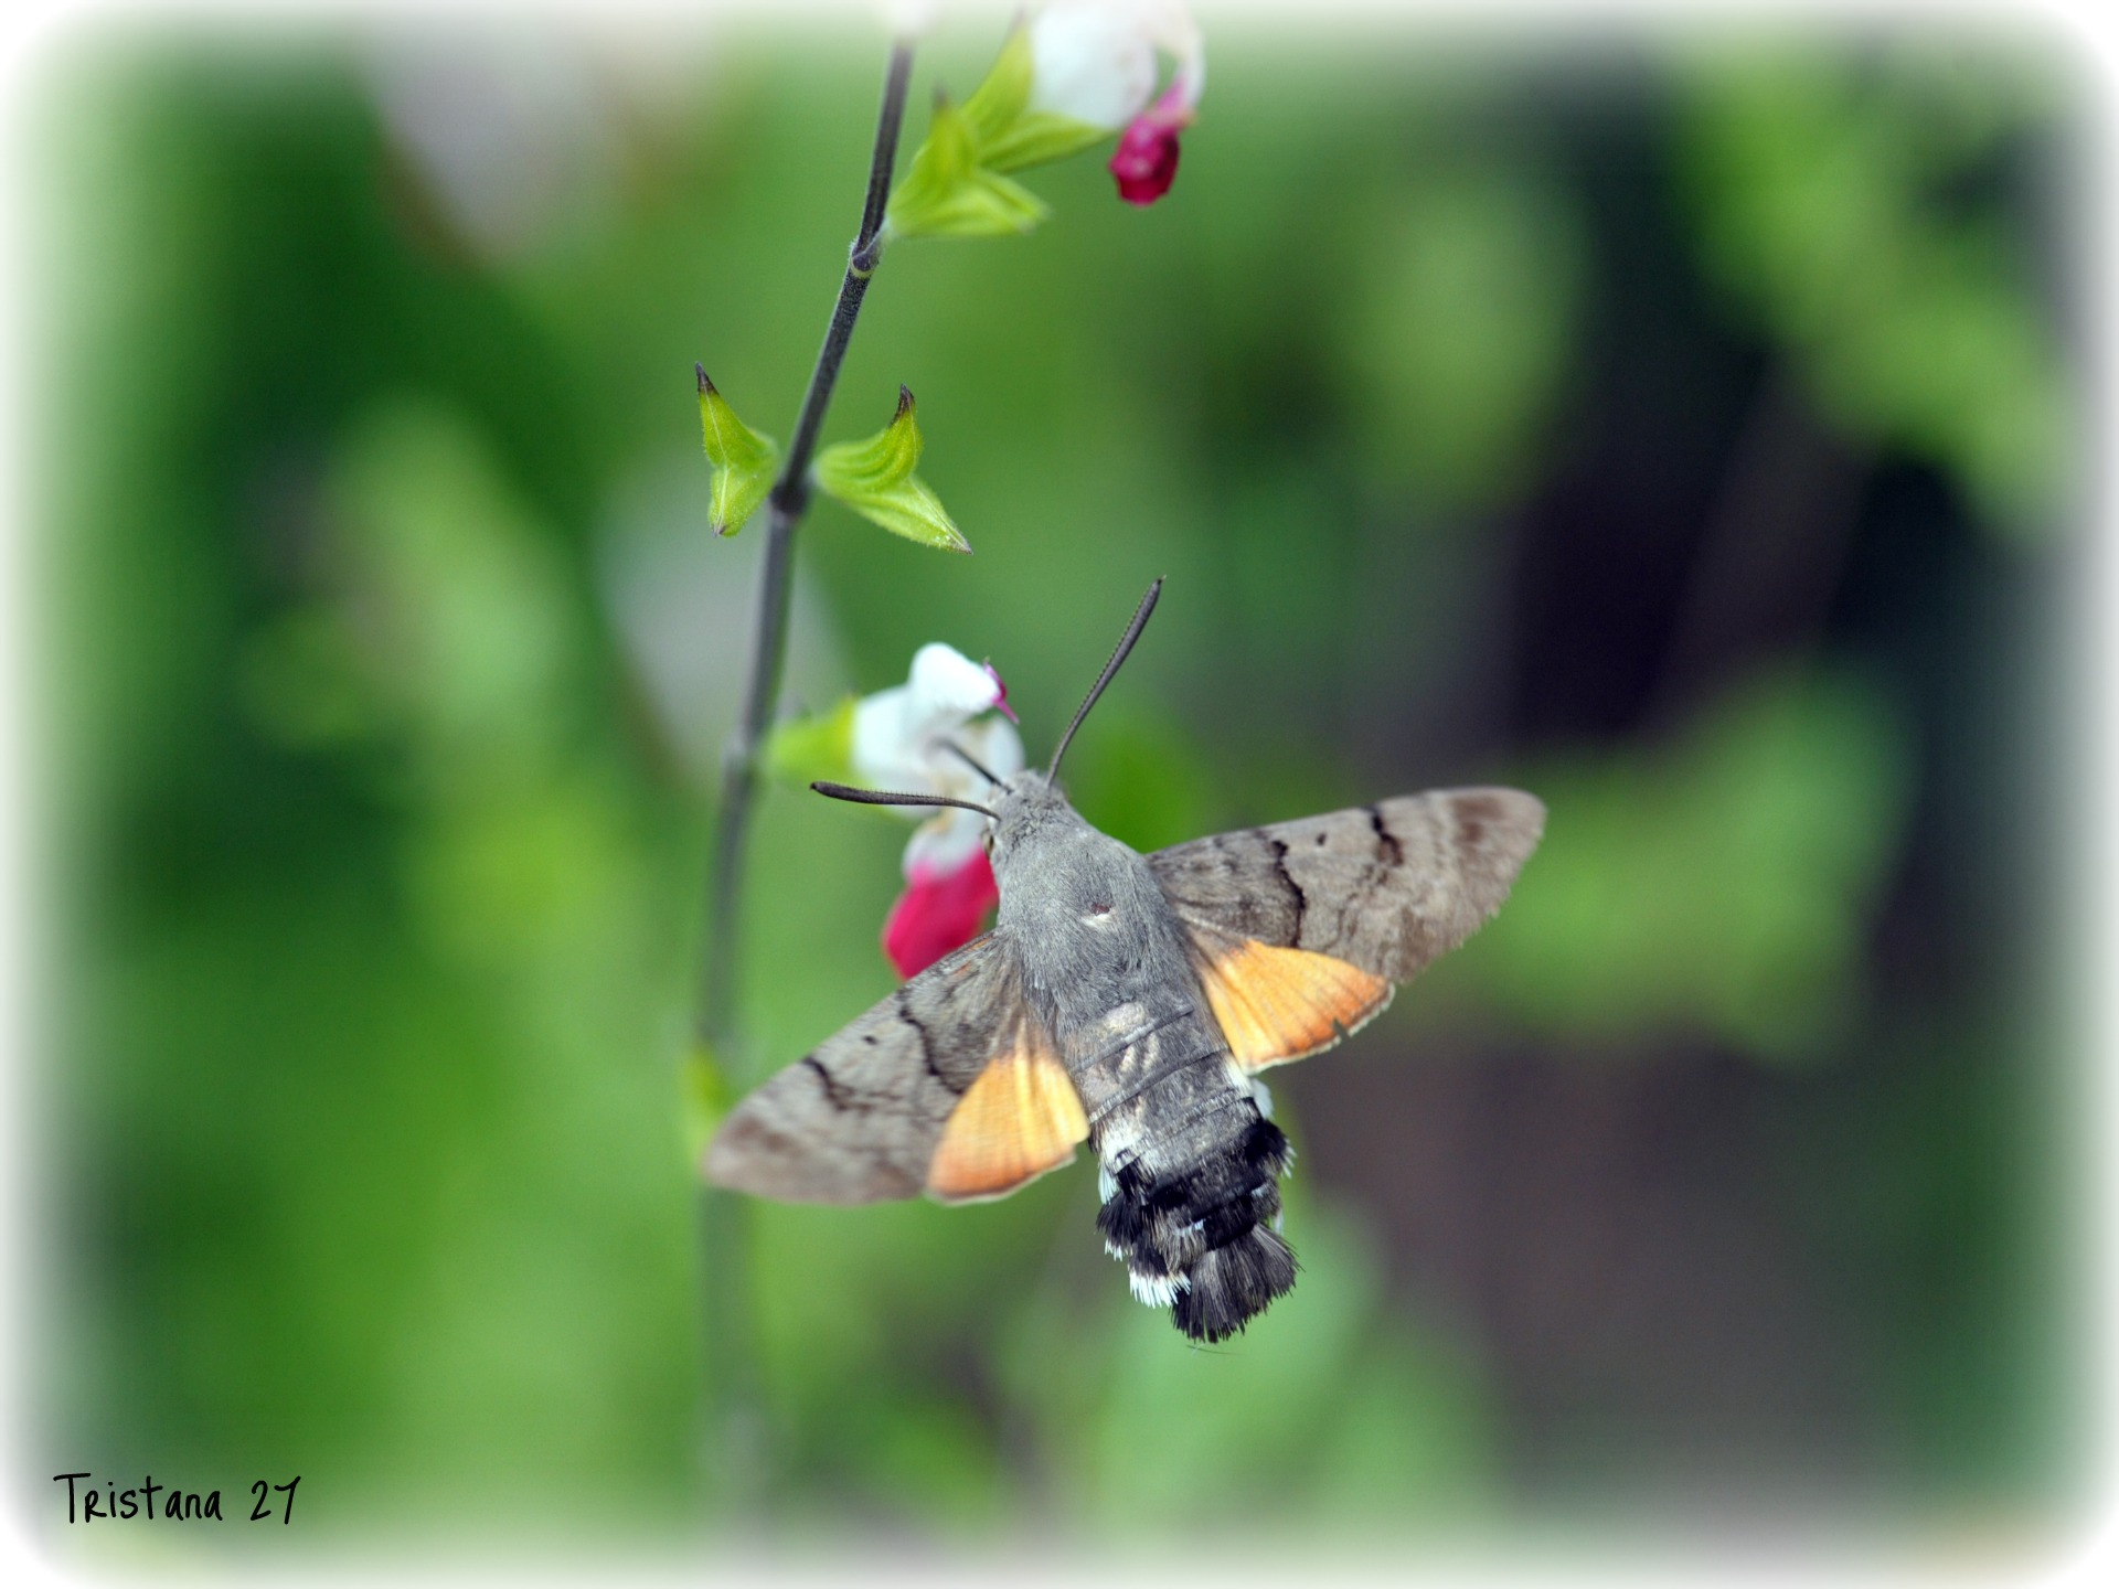
M 1288 1140 L 1252 1117 L 1197 1163 L 1151 1176 L 1127 1163 L 1096 1216 L 1136 1288 L 1172 1288 L 1170 1316 L 1195 1341 L 1235 1335 L 1295 1286 L 1295 1254 L 1274 1231 Z

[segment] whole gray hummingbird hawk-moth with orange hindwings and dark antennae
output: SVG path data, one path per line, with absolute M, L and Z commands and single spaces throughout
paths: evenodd
M 1098 833 L 1060 792 L 1060 758 L 1159 591 L 1045 771 L 979 769 L 990 807 L 816 784 L 987 816 L 1000 913 L 750 1093 L 706 1174 L 790 1201 L 956 1203 L 1002 1197 L 1087 1140 L 1096 1225 L 1134 1295 L 1218 1341 L 1295 1284 L 1278 1229 L 1290 1150 L 1257 1072 L 1358 1032 L 1394 983 L 1471 936 L 1545 807 L 1513 788 L 1432 790 L 1151 856 Z

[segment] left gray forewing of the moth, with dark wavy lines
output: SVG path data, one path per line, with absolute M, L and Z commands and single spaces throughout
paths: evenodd
M 913 1197 L 949 1112 L 1026 1019 L 1015 945 L 973 939 L 750 1093 L 706 1178 L 795 1203 Z

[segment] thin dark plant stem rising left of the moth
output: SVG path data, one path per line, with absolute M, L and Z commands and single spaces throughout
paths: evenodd
M 884 106 L 875 119 L 875 155 L 869 161 L 869 195 L 860 212 L 860 233 L 845 261 L 839 301 L 824 328 L 809 390 L 803 392 L 801 415 L 795 419 L 795 441 L 786 464 L 765 504 L 765 570 L 759 576 L 759 614 L 752 629 L 750 676 L 744 684 L 744 714 L 729 735 L 720 756 L 720 828 L 714 835 L 714 875 L 706 915 L 706 964 L 699 979 L 699 1036 L 720 1051 L 735 1030 L 735 915 L 744 892 L 744 841 L 750 835 L 750 801 L 759 786 L 759 748 L 773 720 L 780 699 L 780 674 L 786 663 L 788 591 L 795 572 L 795 525 L 809 506 L 809 456 L 816 451 L 831 388 L 845 362 L 845 345 L 860 318 L 860 301 L 884 252 L 884 210 L 890 203 L 890 167 L 896 163 L 898 127 L 905 123 L 905 83 L 913 70 L 911 44 L 890 51 L 890 72 L 884 78 Z

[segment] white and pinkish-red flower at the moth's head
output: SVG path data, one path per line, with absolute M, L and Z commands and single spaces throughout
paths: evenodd
M 896 689 L 854 708 L 852 763 L 869 788 L 985 801 L 985 778 L 949 750 L 960 746 L 996 778 L 1023 767 L 1023 742 L 1009 712 L 1009 691 L 990 663 L 926 644 Z M 905 892 L 884 920 L 884 953 L 913 977 L 979 936 L 1000 900 L 985 858 L 985 818 L 977 811 L 884 807 L 920 822 L 905 845 Z M 922 820 L 924 818 L 924 820 Z

